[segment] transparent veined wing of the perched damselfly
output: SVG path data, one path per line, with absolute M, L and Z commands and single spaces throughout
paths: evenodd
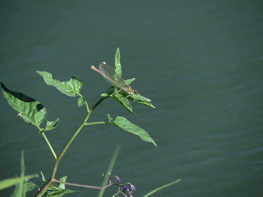
M 126 89 L 129 87 L 122 78 L 118 76 L 118 74 L 114 71 L 113 67 L 105 62 L 100 62 L 98 64 L 98 69 L 101 72 L 104 79 L 110 83 L 112 86 L 117 88 Z

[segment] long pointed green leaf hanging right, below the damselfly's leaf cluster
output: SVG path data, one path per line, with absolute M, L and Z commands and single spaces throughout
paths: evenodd
M 152 142 L 157 147 L 153 139 L 145 130 L 143 130 L 141 127 L 138 127 L 137 125 L 132 124 L 126 118 L 117 116 L 113 124 L 117 125 L 118 127 L 122 128 L 125 131 L 128 131 L 134 135 L 139 136 L 142 140 L 146 142 Z

